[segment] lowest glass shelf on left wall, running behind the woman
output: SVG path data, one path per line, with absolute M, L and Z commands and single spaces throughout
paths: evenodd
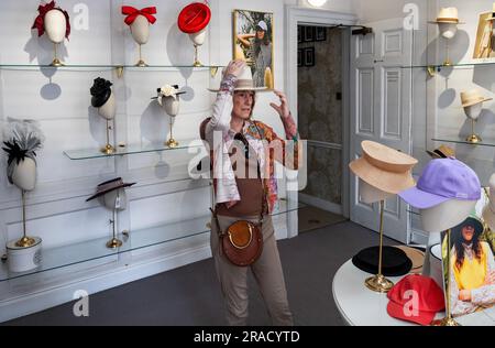
M 296 208 L 288 208 L 287 202 L 280 199 L 279 208 L 272 216 L 280 216 L 296 211 L 305 206 L 305 204 L 299 203 Z M 106 243 L 111 238 L 110 236 L 108 238 L 99 238 L 58 248 L 42 249 L 42 263 L 34 270 L 28 272 L 9 272 L 8 261 L 2 262 L 0 264 L 0 282 L 68 268 L 89 261 L 102 260 L 110 262 L 113 261 L 113 258 L 122 253 L 206 235 L 210 232 L 208 225 L 210 220 L 211 216 L 206 215 L 187 221 L 134 230 L 128 237 L 119 235 L 118 237 L 123 241 L 123 244 L 118 249 L 109 249 L 106 247 Z

